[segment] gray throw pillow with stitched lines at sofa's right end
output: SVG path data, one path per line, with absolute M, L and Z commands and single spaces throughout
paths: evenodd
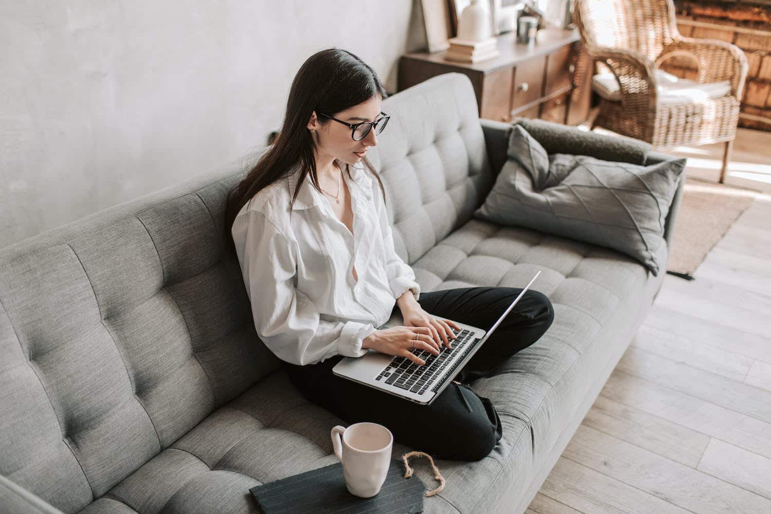
M 664 222 L 685 159 L 651 166 L 554 153 L 519 125 L 508 160 L 474 217 L 613 248 L 655 275 Z M 660 260 L 660 259 L 659 259 Z

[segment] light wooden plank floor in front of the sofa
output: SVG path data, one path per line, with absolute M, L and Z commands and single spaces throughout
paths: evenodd
M 666 275 L 527 514 L 771 513 L 771 196 L 694 277 Z

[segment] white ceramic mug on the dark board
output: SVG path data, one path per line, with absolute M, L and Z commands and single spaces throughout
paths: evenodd
M 348 428 L 337 425 L 331 435 L 348 492 L 361 498 L 379 493 L 391 465 L 391 431 L 378 423 L 359 422 Z

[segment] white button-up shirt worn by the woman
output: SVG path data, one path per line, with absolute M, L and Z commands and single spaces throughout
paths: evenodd
M 415 273 L 394 249 L 377 179 L 349 168 L 353 180 L 345 171 L 342 179 L 351 195 L 353 233 L 310 174 L 290 217 L 300 166 L 258 191 L 231 229 L 254 328 L 278 358 L 295 365 L 336 354 L 361 357 L 367 353 L 363 339 L 389 320 L 396 300 L 408 290 L 420 296 Z

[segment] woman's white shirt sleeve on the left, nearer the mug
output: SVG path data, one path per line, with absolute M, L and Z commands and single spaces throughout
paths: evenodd
M 294 285 L 296 258 L 288 237 L 261 211 L 241 217 L 246 218 L 236 220 L 232 233 L 261 341 L 281 360 L 300 366 L 336 354 L 365 355 L 362 341 L 375 331 L 372 323 L 322 320 Z

